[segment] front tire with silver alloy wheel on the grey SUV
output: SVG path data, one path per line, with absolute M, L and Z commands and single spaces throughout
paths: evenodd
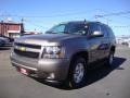
M 86 60 L 81 57 L 76 58 L 70 65 L 68 75 L 68 86 L 72 88 L 80 87 L 86 78 Z

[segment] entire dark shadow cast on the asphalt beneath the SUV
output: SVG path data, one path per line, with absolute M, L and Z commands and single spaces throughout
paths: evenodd
M 93 84 L 93 83 L 95 83 L 95 82 L 98 82 L 100 79 L 103 79 L 104 77 L 106 77 L 114 70 L 125 70 L 123 66 L 120 66 L 120 65 L 126 60 L 127 59 L 125 59 L 125 58 L 115 57 L 114 62 L 113 62 L 113 68 L 108 68 L 106 65 L 103 65 L 101 68 L 96 68 L 94 70 L 89 71 L 88 74 L 87 74 L 87 78 L 86 78 L 84 83 L 78 88 L 69 88 L 69 87 L 66 87 L 63 84 L 49 83 L 49 82 L 46 82 L 46 81 L 40 79 L 40 78 L 35 78 L 35 79 L 37 82 L 40 82 L 40 83 L 46 84 L 48 86 L 52 86 L 52 87 L 63 89 L 63 90 L 79 89 L 79 88 L 86 87 L 88 85 L 91 85 L 91 84 Z

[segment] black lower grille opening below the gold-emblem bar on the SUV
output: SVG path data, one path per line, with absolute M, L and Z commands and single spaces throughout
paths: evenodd
M 14 52 L 16 54 L 23 56 L 23 57 L 27 57 L 27 58 L 38 58 L 39 57 L 39 52 L 31 52 L 31 51 L 21 51 L 17 49 L 14 49 Z

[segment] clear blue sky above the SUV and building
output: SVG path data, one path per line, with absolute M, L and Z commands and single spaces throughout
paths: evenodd
M 95 21 L 96 14 L 130 11 L 129 0 L 1 0 L 0 21 L 24 19 L 25 29 L 44 32 L 66 21 Z M 116 35 L 130 35 L 130 13 L 98 19 L 108 23 Z

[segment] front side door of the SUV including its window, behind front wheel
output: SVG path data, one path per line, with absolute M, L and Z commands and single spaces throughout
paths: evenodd
M 91 23 L 89 25 L 89 33 L 88 36 L 91 36 L 94 32 L 100 32 L 101 27 L 96 23 Z M 99 60 L 101 57 L 103 57 L 103 50 L 102 48 L 102 40 L 103 37 L 90 37 L 88 40 L 89 44 L 89 62 L 94 62 Z

